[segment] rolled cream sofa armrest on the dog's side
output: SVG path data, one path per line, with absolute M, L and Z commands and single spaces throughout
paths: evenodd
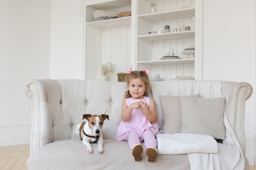
M 61 86 L 53 79 L 31 79 L 24 86 L 32 100 L 30 154 L 54 141 L 53 117 L 49 105 L 60 103 Z

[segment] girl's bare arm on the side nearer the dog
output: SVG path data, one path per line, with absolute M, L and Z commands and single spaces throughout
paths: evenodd
M 139 102 L 135 102 L 127 106 L 125 100 L 122 102 L 122 113 L 121 113 L 121 119 L 123 121 L 128 121 L 132 114 L 132 109 L 139 109 L 141 108 L 141 104 L 144 102 L 141 100 Z

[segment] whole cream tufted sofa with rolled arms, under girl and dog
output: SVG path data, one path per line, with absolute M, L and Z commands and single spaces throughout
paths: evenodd
M 211 82 L 215 84 L 212 85 Z M 244 116 L 245 101 L 252 94 L 250 84 L 212 80 L 170 80 L 151 84 L 150 97 L 155 99 L 160 130 L 164 130 L 166 118 L 162 113 L 159 95 L 200 94 L 202 98 L 215 98 L 219 97 L 220 91 L 220 95 L 225 97 L 227 120 L 234 130 L 233 138 L 239 145 L 234 152 L 236 154 L 231 154 L 240 160 L 240 165 L 234 169 L 243 167 L 242 169 L 249 170 L 245 158 Z M 218 153 L 196 153 L 198 155 L 193 155 L 194 161 L 200 162 L 194 162 L 193 165 L 190 154 L 159 154 L 156 162 L 150 163 L 145 151 L 142 161 L 135 162 L 128 143 L 113 139 L 121 121 L 121 102 L 124 99 L 124 92 L 127 91 L 125 82 L 31 79 L 25 84 L 24 90 L 32 100 L 28 170 L 192 170 L 196 163 L 201 165 L 197 170 L 210 170 L 216 169 L 213 166 L 220 166 L 218 163 L 216 165 L 216 160 L 210 160 L 212 155 L 218 155 L 222 169 L 231 159 L 235 160 L 230 155 L 220 155 L 226 145 L 218 143 Z M 88 153 L 86 146 L 74 133 L 76 125 L 82 122 L 83 114 L 109 115 L 110 120 L 104 121 L 102 129 L 104 153 L 97 152 L 97 144 L 92 144 L 94 152 Z M 144 146 L 143 142 L 142 145 Z M 207 157 L 209 163 L 202 161 L 202 157 Z

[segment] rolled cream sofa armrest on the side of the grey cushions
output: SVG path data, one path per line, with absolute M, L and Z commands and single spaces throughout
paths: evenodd
M 252 86 L 246 82 L 221 82 L 226 97 L 226 114 L 245 155 L 245 101 L 252 95 Z

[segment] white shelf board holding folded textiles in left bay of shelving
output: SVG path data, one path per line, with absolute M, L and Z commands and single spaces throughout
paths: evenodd
M 100 21 L 92 21 L 86 22 L 87 25 L 98 26 L 101 28 L 107 28 L 112 26 L 123 26 L 131 24 L 131 16 L 122 17 L 122 18 L 113 18 L 109 20 L 100 20 Z

